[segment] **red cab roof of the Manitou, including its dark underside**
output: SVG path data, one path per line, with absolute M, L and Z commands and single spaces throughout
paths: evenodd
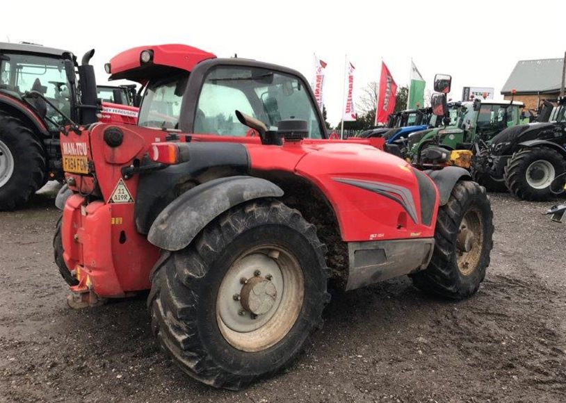
M 141 63 L 143 51 L 152 51 L 153 58 Z M 178 72 L 191 72 L 195 65 L 216 58 L 214 54 L 186 44 L 160 44 L 140 46 L 114 56 L 110 60 L 109 80 L 128 79 L 143 82 L 152 76 L 164 76 Z

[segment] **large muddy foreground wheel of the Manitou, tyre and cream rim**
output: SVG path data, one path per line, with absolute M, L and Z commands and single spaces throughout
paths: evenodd
M 161 347 L 204 384 L 238 390 L 289 365 L 330 300 L 326 247 L 278 201 L 237 206 L 152 273 Z

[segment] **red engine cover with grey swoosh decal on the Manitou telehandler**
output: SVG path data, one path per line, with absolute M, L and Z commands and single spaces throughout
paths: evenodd
M 248 152 L 253 170 L 292 172 L 314 183 L 332 204 L 346 242 L 434 235 L 434 224 L 427 226 L 420 222 L 417 179 L 413 168 L 401 158 L 369 145 L 348 144 L 340 140 L 307 140 L 283 147 L 248 145 Z M 396 201 L 335 179 L 394 183 L 410 190 L 417 222 L 413 222 Z M 435 218 L 436 213 L 432 222 Z

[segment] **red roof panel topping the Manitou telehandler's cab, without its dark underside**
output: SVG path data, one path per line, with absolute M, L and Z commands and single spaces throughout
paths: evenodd
M 140 54 L 145 50 L 153 51 L 152 63 L 154 65 L 177 67 L 187 72 L 190 72 L 202 60 L 216 58 L 214 54 L 185 44 L 148 45 L 128 49 L 111 58 L 111 74 L 140 67 Z

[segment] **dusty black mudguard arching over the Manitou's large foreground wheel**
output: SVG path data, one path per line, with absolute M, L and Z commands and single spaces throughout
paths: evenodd
M 244 201 L 281 197 L 275 183 L 253 176 L 213 179 L 187 190 L 157 216 L 147 239 L 168 251 L 186 247 L 218 215 Z

